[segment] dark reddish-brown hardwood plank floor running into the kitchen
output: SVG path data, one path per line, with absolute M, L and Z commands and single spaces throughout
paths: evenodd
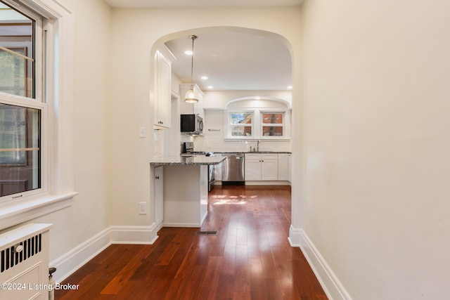
M 65 282 L 55 299 L 327 299 L 290 247 L 289 186 L 224 186 L 198 228 L 162 228 L 152 245 L 113 244 Z

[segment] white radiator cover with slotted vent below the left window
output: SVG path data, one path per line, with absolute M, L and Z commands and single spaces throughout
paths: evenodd
M 28 224 L 0 234 L 0 299 L 49 299 L 49 230 Z

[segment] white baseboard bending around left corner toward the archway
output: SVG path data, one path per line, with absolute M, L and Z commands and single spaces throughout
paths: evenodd
M 160 226 L 110 226 L 70 252 L 50 262 L 55 267 L 53 278 L 61 282 L 93 259 L 110 244 L 153 244 Z

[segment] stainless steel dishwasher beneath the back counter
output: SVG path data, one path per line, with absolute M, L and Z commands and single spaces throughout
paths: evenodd
M 245 185 L 244 153 L 223 153 L 222 185 Z

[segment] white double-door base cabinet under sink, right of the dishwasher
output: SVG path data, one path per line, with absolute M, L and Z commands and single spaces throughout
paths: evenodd
M 278 181 L 278 154 L 245 154 L 245 181 Z

